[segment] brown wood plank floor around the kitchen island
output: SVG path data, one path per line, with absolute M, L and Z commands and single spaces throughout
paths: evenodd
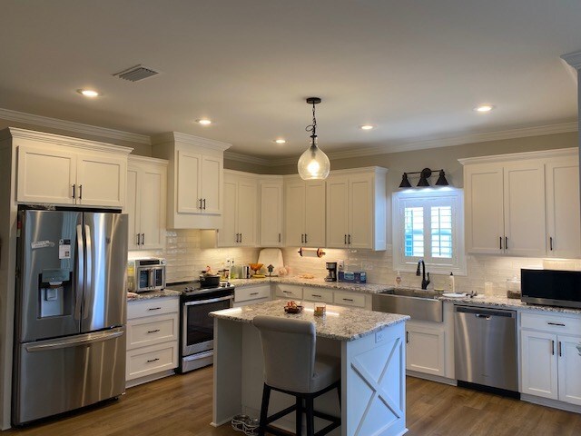
M 42 395 L 42 392 L 39 392 Z M 127 390 L 118 401 L 2 436 L 241 436 L 212 421 L 212 367 Z M 408 378 L 409 436 L 574 436 L 581 414 Z

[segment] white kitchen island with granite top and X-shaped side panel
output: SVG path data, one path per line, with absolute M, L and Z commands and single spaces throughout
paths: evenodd
M 212 312 L 214 317 L 214 391 L 212 425 L 244 413 L 258 417 L 262 391 L 262 352 L 257 315 L 315 322 L 317 348 L 341 359 L 341 409 L 337 393 L 323 394 L 315 408 L 341 415 L 342 424 L 330 434 L 399 435 L 406 429 L 405 322 L 407 315 L 370 312 L 327 305 L 324 318 L 314 317 L 307 305 L 299 314 L 286 314 L 284 300 Z M 292 374 L 289 374 L 292 377 Z M 294 401 L 272 392 L 271 413 Z M 293 430 L 294 416 L 276 421 Z M 320 428 L 315 423 L 316 428 Z

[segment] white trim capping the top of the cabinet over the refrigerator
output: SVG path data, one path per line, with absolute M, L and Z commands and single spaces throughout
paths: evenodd
M 114 154 L 130 154 L 133 151 L 132 147 L 123 147 L 121 145 L 113 145 L 101 143 L 98 141 L 90 141 L 88 139 L 74 138 L 71 136 L 63 136 L 60 134 L 45 134 L 44 132 L 36 132 L 34 130 L 18 129 L 16 127 L 7 127 L 0 131 L 0 140 L 7 138 L 21 138 L 31 141 L 38 141 L 41 143 L 64 145 L 67 147 L 83 148 L 92 152 L 107 152 Z

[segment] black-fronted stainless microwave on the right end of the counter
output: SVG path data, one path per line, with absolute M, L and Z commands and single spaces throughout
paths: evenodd
M 581 308 L 581 272 L 520 270 L 521 300 L 532 304 Z

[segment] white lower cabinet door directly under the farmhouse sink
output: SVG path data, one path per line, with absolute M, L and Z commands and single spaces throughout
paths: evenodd
M 444 328 L 406 322 L 406 370 L 445 375 Z

